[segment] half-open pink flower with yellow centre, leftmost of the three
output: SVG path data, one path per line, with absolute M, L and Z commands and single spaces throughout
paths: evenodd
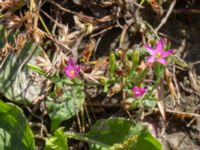
M 71 80 L 78 76 L 80 72 L 80 66 L 76 65 L 73 59 L 70 57 L 67 66 L 64 68 L 65 74 Z

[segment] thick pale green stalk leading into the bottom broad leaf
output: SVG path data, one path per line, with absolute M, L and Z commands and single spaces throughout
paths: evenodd
M 106 144 L 103 144 L 101 142 L 98 142 L 98 141 L 95 141 L 95 140 L 92 140 L 86 136 L 84 136 L 83 134 L 80 134 L 80 133 L 75 133 L 75 132 L 65 132 L 65 136 L 67 138 L 71 138 L 71 139 L 75 139 L 75 140 L 80 140 L 80 141 L 84 141 L 84 142 L 87 142 L 87 143 L 94 143 L 94 144 L 98 144 L 98 145 L 101 145 L 103 147 L 109 147 L 109 145 L 106 145 Z

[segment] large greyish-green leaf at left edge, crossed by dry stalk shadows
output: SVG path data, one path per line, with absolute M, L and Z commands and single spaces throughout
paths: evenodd
M 19 54 L 10 53 L 0 67 L 0 93 L 7 99 L 30 104 L 37 98 L 44 88 L 41 83 L 46 80 L 37 76 L 27 68 L 27 63 L 35 63 L 36 56 L 41 52 L 41 48 L 32 42 L 26 43 Z

